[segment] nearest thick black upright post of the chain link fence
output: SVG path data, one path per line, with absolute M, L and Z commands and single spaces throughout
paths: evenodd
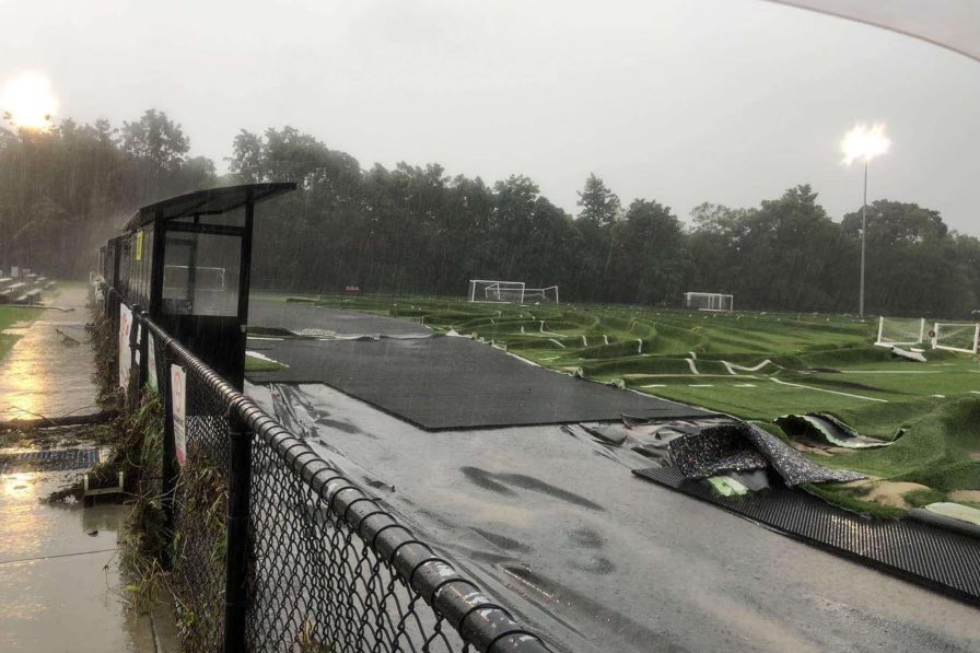
M 224 651 L 245 648 L 245 615 L 248 609 L 248 512 L 252 494 L 252 433 L 235 406 L 229 407 L 232 443 L 228 488 L 228 559 L 224 590 Z

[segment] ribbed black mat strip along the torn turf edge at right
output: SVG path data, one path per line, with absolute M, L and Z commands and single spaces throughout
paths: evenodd
M 785 487 L 721 497 L 676 467 L 633 474 L 773 530 L 980 605 L 980 539 L 911 520 L 872 520 Z

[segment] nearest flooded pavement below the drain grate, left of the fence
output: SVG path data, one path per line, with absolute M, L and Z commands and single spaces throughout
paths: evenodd
M 44 501 L 78 474 L 0 475 L 0 651 L 175 650 L 165 611 L 127 608 L 118 538 L 129 508 Z

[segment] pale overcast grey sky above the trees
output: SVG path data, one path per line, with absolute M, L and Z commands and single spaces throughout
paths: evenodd
M 682 218 L 810 183 L 839 219 L 839 140 L 884 121 L 870 197 L 980 235 L 980 63 L 762 0 L 0 0 L 0 83 L 42 72 L 82 121 L 163 109 L 221 171 L 238 129 L 291 125 L 364 167 L 526 174 L 572 213 L 595 172 Z

